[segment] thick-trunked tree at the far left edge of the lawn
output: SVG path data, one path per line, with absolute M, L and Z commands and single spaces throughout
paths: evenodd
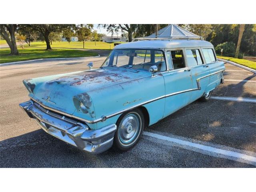
M 10 55 L 18 55 L 18 49 L 16 45 L 15 32 L 18 29 L 17 24 L 0 24 L 0 34 L 6 40 L 10 47 Z

